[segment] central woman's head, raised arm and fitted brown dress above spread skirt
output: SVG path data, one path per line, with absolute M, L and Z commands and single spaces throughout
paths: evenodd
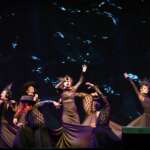
M 73 80 L 70 76 L 66 75 L 61 78 L 60 83 L 55 88 L 62 89 L 60 103 L 63 105 L 62 122 L 69 124 L 80 124 L 79 114 L 75 104 L 75 95 L 79 86 L 83 82 L 83 73 L 86 72 L 87 66 L 82 66 L 82 72 L 79 81 L 73 86 Z

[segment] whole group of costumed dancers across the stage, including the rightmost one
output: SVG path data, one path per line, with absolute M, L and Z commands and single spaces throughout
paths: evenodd
M 29 83 L 25 84 L 24 94 L 17 102 L 11 100 L 12 85 L 7 86 L 0 95 L 0 148 L 100 148 L 121 143 L 122 126 L 111 121 L 109 101 L 99 87 L 85 82 L 90 92 L 78 91 L 86 70 L 87 66 L 83 65 L 76 84 L 68 75 L 59 78 L 55 88 L 59 89 L 60 98 L 55 101 L 41 101 L 34 84 Z M 150 127 L 149 82 L 142 81 L 138 90 L 127 73 L 124 77 L 130 81 L 144 108 L 144 114 L 127 126 Z M 77 97 L 86 115 L 83 122 L 75 102 Z M 61 121 L 55 118 L 60 122 L 59 127 L 46 125 L 40 110 L 45 104 L 61 110 Z M 52 113 L 48 115 L 54 117 Z

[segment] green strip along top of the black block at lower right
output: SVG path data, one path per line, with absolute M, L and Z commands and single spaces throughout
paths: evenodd
M 132 127 L 123 127 L 123 133 L 129 134 L 150 134 L 150 128 L 132 128 Z

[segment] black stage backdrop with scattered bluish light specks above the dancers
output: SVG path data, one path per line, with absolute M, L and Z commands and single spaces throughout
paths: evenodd
M 0 89 L 12 82 L 18 100 L 34 80 L 41 98 L 57 99 L 57 77 L 77 81 L 87 64 L 85 80 L 108 96 L 112 120 L 128 124 L 143 110 L 123 73 L 137 84 L 150 77 L 148 9 L 148 0 L 1 1 Z

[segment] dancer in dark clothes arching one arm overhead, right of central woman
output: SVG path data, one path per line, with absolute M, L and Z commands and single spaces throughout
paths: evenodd
M 94 91 L 90 94 L 80 93 L 80 96 L 84 96 L 83 104 L 87 114 L 83 124 L 89 124 L 94 128 L 96 140 L 93 140 L 93 146 L 102 148 L 106 148 L 108 145 L 112 146 L 112 144 L 119 142 L 120 138 L 115 134 L 110 124 L 113 123 L 113 126 L 115 125 L 120 132 L 122 128 L 110 121 L 110 104 L 98 86 L 90 82 L 87 82 L 86 85 Z

